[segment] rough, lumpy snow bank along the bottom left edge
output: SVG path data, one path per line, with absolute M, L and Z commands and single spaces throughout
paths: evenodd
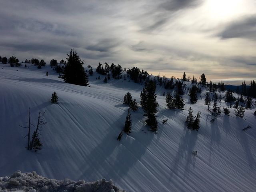
M 100 179 L 94 182 L 70 179 L 55 180 L 38 175 L 35 171 L 14 172 L 10 177 L 0 177 L 0 192 L 125 192 L 113 184 L 112 180 Z

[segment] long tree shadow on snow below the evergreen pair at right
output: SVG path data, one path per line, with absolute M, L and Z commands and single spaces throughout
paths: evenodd
M 181 162 L 183 159 L 185 160 L 185 167 L 184 167 L 184 177 L 187 178 L 190 173 L 190 165 L 193 165 L 193 168 L 195 166 L 195 158 L 193 158 L 193 155 L 191 154 L 192 151 L 194 151 L 194 147 L 196 146 L 196 140 L 198 137 L 198 132 L 194 130 L 188 130 L 186 126 L 184 126 L 183 135 L 180 138 L 180 144 L 178 148 L 178 152 L 176 153 L 176 157 L 174 158 L 172 162 L 171 167 L 171 174 L 170 179 L 174 175 L 179 174 L 179 168 L 182 170 L 181 165 L 183 163 Z

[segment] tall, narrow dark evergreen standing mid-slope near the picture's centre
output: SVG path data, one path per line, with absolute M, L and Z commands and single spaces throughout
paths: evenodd
M 144 115 L 147 116 L 146 124 L 150 126 L 152 132 L 157 131 L 157 106 L 158 102 L 156 101 L 156 85 L 153 80 L 149 80 L 145 83 L 145 86 L 140 93 L 140 105 L 144 110 Z

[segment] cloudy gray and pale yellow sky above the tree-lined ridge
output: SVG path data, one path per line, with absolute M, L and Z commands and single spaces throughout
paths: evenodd
M 0 55 L 256 78 L 256 0 L 0 0 Z

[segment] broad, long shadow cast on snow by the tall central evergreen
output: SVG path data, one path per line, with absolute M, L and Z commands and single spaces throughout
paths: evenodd
M 112 128 L 116 126 L 116 122 L 109 125 L 110 129 L 106 130 L 108 132 L 106 136 L 98 146 L 84 157 L 85 164 L 79 168 L 82 172 L 80 179 L 95 180 L 103 176 L 115 181 L 122 180 L 128 170 L 140 161 L 154 135 L 144 134 L 143 132 L 141 134 L 144 134 L 146 139 L 138 141 L 132 138 L 133 133 L 129 136 L 124 133 L 122 140 L 119 142 L 116 138 L 124 126 L 126 115 L 127 110 L 116 120 L 116 122 L 122 122 L 118 126 L 119 129 Z

